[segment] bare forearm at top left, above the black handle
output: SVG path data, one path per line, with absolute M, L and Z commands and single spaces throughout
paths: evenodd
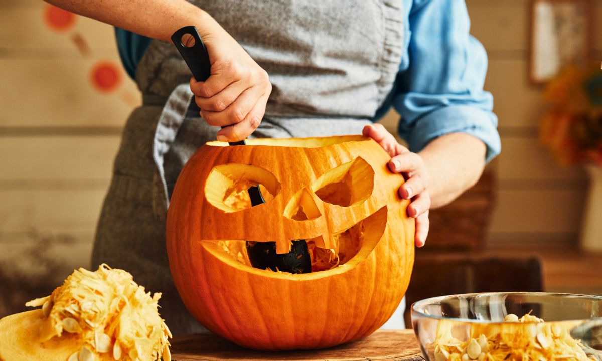
M 196 25 L 203 38 L 222 30 L 209 14 L 185 0 L 46 1 L 73 13 L 168 42 L 173 32 L 186 25 Z

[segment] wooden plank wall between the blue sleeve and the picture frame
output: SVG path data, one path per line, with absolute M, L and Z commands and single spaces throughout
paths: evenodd
M 595 4 L 593 46 L 600 54 L 602 27 Z M 529 1 L 468 0 L 471 33 L 489 55 L 486 90 L 494 94 L 502 153 L 492 164 L 498 204 L 490 242 L 577 242 L 586 179 L 580 168 L 558 167 L 539 145 L 541 88 L 527 81 Z

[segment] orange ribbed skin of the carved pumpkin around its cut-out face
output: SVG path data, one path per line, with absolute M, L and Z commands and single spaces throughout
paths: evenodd
M 403 177 L 388 170 L 386 152 L 359 136 L 222 144 L 208 143 L 190 158 L 167 214 L 170 271 L 190 313 L 211 332 L 258 350 L 332 347 L 379 329 L 402 300 L 414 264 L 414 220 L 406 215 L 408 201 L 397 194 Z M 354 160 L 363 168 L 358 166 L 349 182 L 365 183 L 373 176 L 367 199 L 341 206 L 316 196 L 323 174 Z M 211 184 L 217 178 L 210 174 L 228 164 L 253 165 L 273 174 L 275 197 L 236 212 L 216 206 L 214 193 L 228 182 Z M 265 177 L 252 181 L 270 182 Z M 295 220 L 287 205 L 303 188 L 319 216 Z M 217 244 L 276 241 L 278 252 L 284 253 L 291 239 L 317 238 L 320 244 L 323 236 L 321 247 L 330 248 L 333 234 L 362 220 L 363 241 L 356 255 L 332 270 L 309 274 L 252 268 Z

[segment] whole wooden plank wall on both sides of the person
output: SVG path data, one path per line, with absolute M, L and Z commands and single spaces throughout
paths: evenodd
M 489 240 L 574 242 L 585 177 L 558 168 L 538 145 L 541 91 L 526 74 L 528 1 L 467 3 L 472 32 L 488 50 L 486 88 L 495 96 L 503 143 L 490 165 L 499 196 Z M 88 267 L 120 130 L 138 102 L 125 73 L 113 93 L 90 86 L 96 61 L 119 61 L 113 29 L 78 17 L 74 28 L 51 31 L 42 22 L 45 6 L 0 2 L 0 316 L 73 268 Z M 89 57 L 74 45 L 77 34 Z M 595 34 L 602 49 L 602 29 Z M 394 129 L 395 121 L 391 113 L 384 123 Z M 8 297 L 17 290 L 21 297 Z

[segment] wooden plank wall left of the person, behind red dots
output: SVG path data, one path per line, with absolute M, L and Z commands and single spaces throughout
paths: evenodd
M 120 66 L 111 26 L 77 17 L 52 31 L 46 6 L 0 2 L 0 316 L 90 267 L 120 132 L 140 102 L 125 72 L 110 93 L 90 82 L 99 61 Z

